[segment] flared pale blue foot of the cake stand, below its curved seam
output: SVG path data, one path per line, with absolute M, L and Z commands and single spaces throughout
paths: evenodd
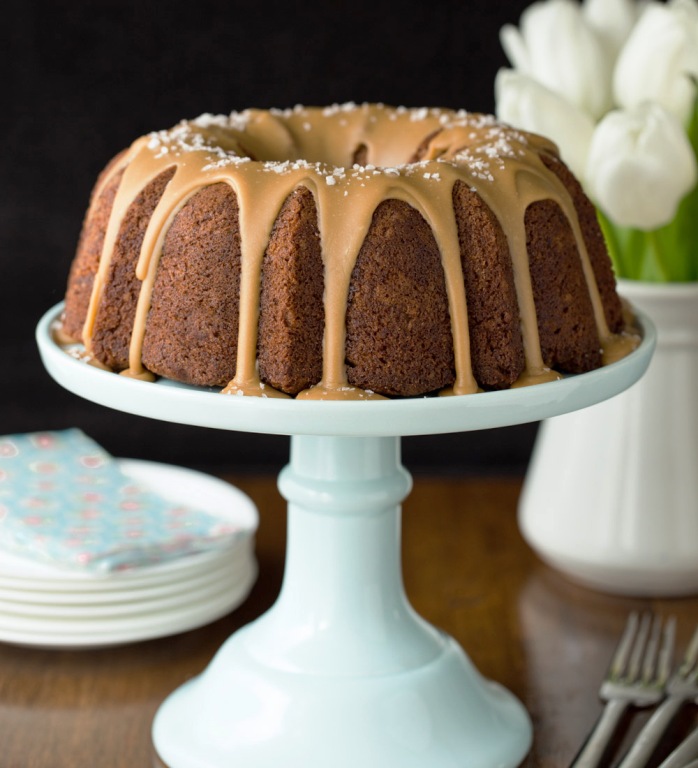
M 166 699 L 156 748 L 169 768 L 518 765 L 531 739 L 523 707 L 449 645 L 409 672 L 332 679 L 264 666 L 236 635 Z

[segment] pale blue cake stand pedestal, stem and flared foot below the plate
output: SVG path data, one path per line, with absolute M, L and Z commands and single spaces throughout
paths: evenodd
M 531 744 L 508 691 L 410 607 L 396 437 L 293 437 L 276 604 L 165 700 L 169 768 L 506 768 Z

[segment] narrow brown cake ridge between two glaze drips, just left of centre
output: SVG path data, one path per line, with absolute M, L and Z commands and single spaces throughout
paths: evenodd
M 322 377 L 323 292 L 315 201 L 301 188 L 286 199 L 264 256 L 257 343 L 262 381 L 289 395 Z

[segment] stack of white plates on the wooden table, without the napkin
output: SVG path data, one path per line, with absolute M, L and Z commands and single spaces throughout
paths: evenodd
M 0 641 L 88 648 L 163 637 L 214 621 L 247 597 L 257 576 L 253 502 L 200 472 L 135 460 L 120 466 L 172 501 L 220 516 L 240 535 L 216 549 L 114 573 L 0 551 Z

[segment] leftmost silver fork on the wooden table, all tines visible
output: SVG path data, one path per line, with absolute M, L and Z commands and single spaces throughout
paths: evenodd
M 662 628 L 659 617 L 652 619 L 650 614 L 644 614 L 640 618 L 636 612 L 628 616 L 599 689 L 599 696 L 605 702 L 603 712 L 571 768 L 596 768 L 628 707 L 647 707 L 661 701 L 671 672 L 675 635 L 673 618 Z

